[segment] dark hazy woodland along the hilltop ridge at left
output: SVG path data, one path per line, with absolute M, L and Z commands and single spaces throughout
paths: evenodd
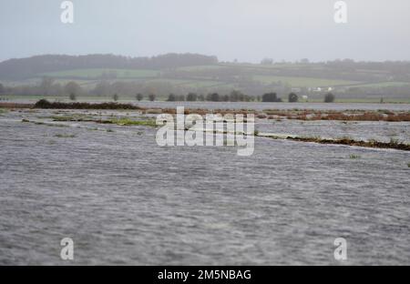
M 167 54 L 152 57 L 114 55 L 32 56 L 0 63 L 0 78 L 23 79 L 37 74 L 84 68 L 164 69 L 218 64 L 216 56 Z

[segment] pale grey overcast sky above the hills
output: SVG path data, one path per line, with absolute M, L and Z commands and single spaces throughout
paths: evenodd
M 410 60 L 410 1 L 347 0 L 348 23 L 333 21 L 335 0 L 0 1 L 0 61 L 41 54 L 156 56 L 200 53 L 260 62 L 309 58 Z

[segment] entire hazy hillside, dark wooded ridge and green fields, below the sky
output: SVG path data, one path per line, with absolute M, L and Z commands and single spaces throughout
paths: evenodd
M 409 62 L 354 62 L 336 60 L 323 63 L 263 64 L 219 62 L 215 56 L 168 54 L 154 57 L 113 55 L 34 56 L 0 63 L 0 81 L 5 85 L 24 86 L 44 77 L 56 84 L 70 81 L 94 95 L 116 92 L 133 96 L 136 92 L 228 93 L 232 89 L 260 96 L 275 91 L 281 95 L 293 91 L 322 96 L 332 90 L 346 98 L 410 97 Z M 100 94 L 102 82 L 113 85 Z M 14 93 L 25 95 L 17 89 Z M 38 93 L 38 90 L 30 94 Z

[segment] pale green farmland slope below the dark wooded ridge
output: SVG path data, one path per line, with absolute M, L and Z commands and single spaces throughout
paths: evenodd
M 167 67 L 159 70 L 85 68 L 36 74 L 36 76 L 20 81 L 7 81 L 5 86 L 38 86 L 44 76 L 49 76 L 55 79 L 54 83 L 61 86 L 67 85 L 70 81 L 76 81 L 87 93 L 102 80 L 107 80 L 111 84 L 122 81 L 138 84 L 128 85 L 124 91 L 118 87 L 119 90 L 116 91 L 118 95 L 128 94 L 129 96 L 131 94 L 128 91 L 129 88 L 134 87 L 137 89 L 135 93 L 153 92 L 156 93 L 157 98 L 169 93 L 186 95 L 189 92 L 199 94 L 219 92 L 228 94 L 234 89 L 251 96 L 261 96 L 263 92 L 272 90 L 285 98 L 287 95 L 283 94 L 284 92 L 291 92 L 291 88 L 304 87 L 308 90 L 302 90 L 302 92 L 308 92 L 309 100 L 314 102 L 323 100 L 323 94 L 321 95 L 315 88 L 321 87 L 324 92 L 328 87 L 332 87 L 333 92 L 338 94 L 336 96 L 338 102 L 378 103 L 381 97 L 384 98 L 384 102 L 408 102 L 409 99 L 405 98 L 405 90 L 395 88 L 395 86 L 404 86 L 410 91 L 410 82 L 400 82 L 401 77 L 395 78 L 390 74 L 385 74 L 383 68 L 380 70 L 358 69 L 355 71 L 357 79 L 355 79 L 356 76 L 352 76 L 352 72 L 354 71 L 343 68 L 332 69 L 331 66 L 316 63 L 275 63 L 272 65 L 220 63 Z M 405 80 L 405 76 L 402 77 Z M 391 89 L 388 89 L 389 87 Z M 346 94 L 346 97 L 357 95 L 363 98 L 358 100 L 343 98 L 343 94 Z M 124 97 L 121 96 L 120 99 Z M 130 99 L 133 98 L 130 97 Z

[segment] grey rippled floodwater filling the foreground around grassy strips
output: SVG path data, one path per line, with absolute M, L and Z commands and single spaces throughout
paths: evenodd
M 55 113 L 0 114 L 0 265 L 410 264 L 409 152 L 257 137 L 253 156 L 239 157 L 236 147 L 159 147 L 151 127 L 22 122 Z M 384 122 L 256 128 L 410 133 Z M 71 262 L 60 259 L 66 237 Z M 347 241 L 344 262 L 335 238 Z

